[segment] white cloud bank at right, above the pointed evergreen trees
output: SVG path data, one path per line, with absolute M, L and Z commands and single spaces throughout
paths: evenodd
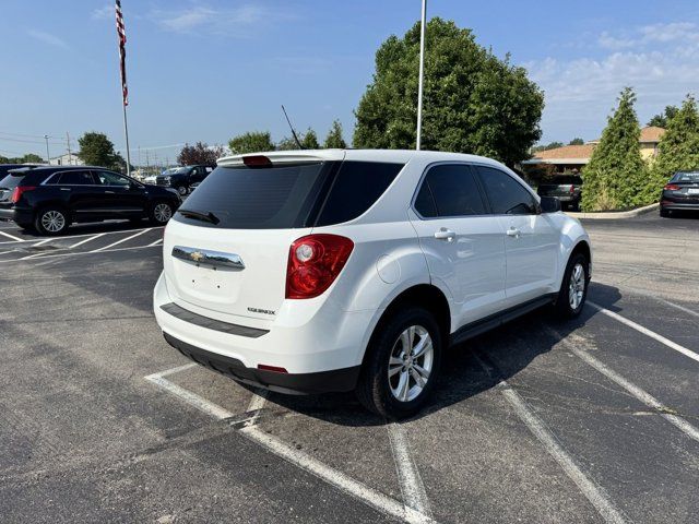
M 601 56 L 597 48 L 590 49 L 588 58 L 549 57 L 525 63 L 546 96 L 544 141 L 599 136 L 627 85 L 637 93 L 641 123 L 666 105 L 682 103 L 698 85 L 698 29 L 696 24 L 674 23 L 618 35 L 602 33 L 595 41 L 607 52 Z

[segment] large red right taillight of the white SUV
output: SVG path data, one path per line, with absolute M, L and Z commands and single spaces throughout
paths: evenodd
M 286 298 L 313 298 L 335 281 L 354 242 L 339 235 L 309 235 L 292 243 L 286 266 Z

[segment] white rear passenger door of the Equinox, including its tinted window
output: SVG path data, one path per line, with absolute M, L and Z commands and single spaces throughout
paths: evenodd
M 470 166 L 429 167 L 413 210 L 430 277 L 441 282 L 457 303 L 455 327 L 496 312 L 505 299 L 505 231 L 488 215 Z

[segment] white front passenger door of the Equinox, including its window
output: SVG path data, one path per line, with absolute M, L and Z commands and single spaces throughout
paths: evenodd
M 475 169 L 505 230 L 508 305 L 552 293 L 560 238 L 552 217 L 541 214 L 534 195 L 513 176 L 489 166 Z

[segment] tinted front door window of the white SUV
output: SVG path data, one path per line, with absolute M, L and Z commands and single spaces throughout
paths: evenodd
M 536 213 L 536 201 L 524 187 L 508 174 L 493 167 L 477 166 L 493 213 L 529 215 Z

